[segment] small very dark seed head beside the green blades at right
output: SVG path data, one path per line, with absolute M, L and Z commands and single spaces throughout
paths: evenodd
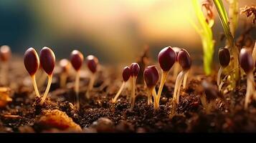
M 229 50 L 227 48 L 219 49 L 219 64 L 222 67 L 226 67 L 229 65 L 229 61 L 230 61 Z

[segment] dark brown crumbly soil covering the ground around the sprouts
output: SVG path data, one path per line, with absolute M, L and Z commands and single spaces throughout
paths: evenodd
M 35 98 L 21 58 L 12 59 L 9 66 L 11 84 L 7 86 L 11 88 L 9 96 L 12 102 L 0 109 L 0 132 L 256 132 L 256 102 L 252 102 L 247 110 L 243 109 L 245 77 L 242 77 L 240 86 L 231 92 L 225 90 L 227 84 L 224 84 L 222 96 L 214 100 L 215 107 L 209 114 L 200 101 L 200 96 L 204 95 L 201 84 L 203 80 L 207 80 L 216 85 L 216 74 L 206 77 L 200 72 L 202 69 L 194 66 L 186 88 L 181 88 L 179 105 L 174 108 L 171 99 L 175 79 L 170 73 L 163 87 L 158 110 L 153 109 L 153 104 L 147 104 L 146 87 L 143 82 L 139 82 L 136 85 L 136 105 L 131 111 L 131 104 L 126 99 L 131 94 L 129 89 L 122 92 L 116 104 L 111 102 L 122 82 L 122 67 L 101 65 L 90 99 L 85 99 L 90 73 L 87 69 L 82 69 L 81 107 L 77 110 L 73 107 L 75 72 L 70 72 L 67 87 L 62 89 L 59 86 L 60 68 L 55 69 L 47 100 L 40 106 L 40 99 Z M 38 79 L 40 77 L 42 76 L 37 76 Z M 46 82 L 39 87 L 40 93 L 44 92 Z M 38 124 L 44 111 L 54 109 L 65 112 L 82 130 L 51 126 L 45 129 L 42 124 Z

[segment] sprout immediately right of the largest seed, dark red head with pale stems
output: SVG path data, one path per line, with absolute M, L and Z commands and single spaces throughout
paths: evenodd
M 185 49 L 181 49 L 178 54 L 178 61 L 182 68 L 182 71 L 178 74 L 176 79 L 176 84 L 174 87 L 174 101 L 176 104 L 179 104 L 179 94 L 181 89 L 181 83 L 183 82 L 183 86 L 186 86 L 186 79 L 189 74 L 189 69 L 191 67 L 191 58 L 189 53 Z

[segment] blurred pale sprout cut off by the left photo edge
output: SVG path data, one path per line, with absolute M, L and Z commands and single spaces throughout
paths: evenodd
M 8 69 L 9 64 L 8 61 L 11 58 L 11 49 L 9 46 L 4 45 L 0 48 L 0 58 L 2 62 L 1 66 L 1 84 L 5 85 L 8 82 Z

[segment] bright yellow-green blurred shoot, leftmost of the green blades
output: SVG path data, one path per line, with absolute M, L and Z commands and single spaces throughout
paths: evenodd
M 196 29 L 197 33 L 202 39 L 203 51 L 204 51 L 204 72 L 209 75 L 212 72 L 212 59 L 214 55 L 214 39 L 212 35 L 212 25 L 214 19 L 211 19 L 207 22 L 207 17 L 204 16 L 202 7 L 199 4 L 199 1 L 193 0 L 194 11 L 196 12 L 196 17 L 199 21 L 199 26 L 194 24 L 191 21 L 192 26 Z M 209 9 L 207 9 L 209 11 Z

